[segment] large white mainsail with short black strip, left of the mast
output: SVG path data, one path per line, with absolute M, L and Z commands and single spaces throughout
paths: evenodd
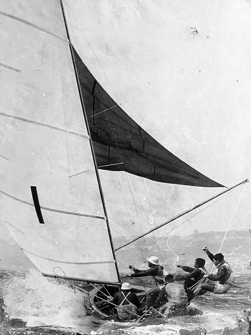
M 43 273 L 117 283 L 60 1 L 0 16 L 1 218 Z

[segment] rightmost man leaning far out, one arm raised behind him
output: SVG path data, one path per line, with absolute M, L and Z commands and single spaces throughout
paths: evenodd
M 194 296 L 202 295 L 207 291 L 214 292 L 214 294 L 226 293 L 234 283 L 233 270 L 230 265 L 224 261 L 224 256 L 221 253 L 213 255 L 207 247 L 204 247 L 203 251 L 218 269 L 216 274 L 205 274 L 203 277 L 216 281 L 216 283 L 205 282 L 199 284 L 193 292 Z

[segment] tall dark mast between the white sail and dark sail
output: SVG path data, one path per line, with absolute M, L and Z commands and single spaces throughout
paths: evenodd
M 66 21 L 65 10 L 64 10 L 62 0 L 60 0 L 60 4 L 61 4 L 62 14 L 63 14 L 63 18 L 64 18 L 66 33 L 67 33 L 67 37 L 68 37 L 68 40 L 69 40 L 72 62 L 73 62 L 73 67 L 74 67 L 74 71 L 75 71 L 80 102 L 81 102 L 83 115 L 84 115 L 84 119 L 85 119 L 85 125 L 86 125 L 87 132 L 88 132 L 88 135 L 89 135 L 92 158 L 93 158 L 93 162 L 94 162 L 94 166 L 95 166 L 95 172 L 96 172 L 96 177 L 97 177 L 97 181 L 98 181 L 98 187 L 99 187 L 100 197 L 101 197 L 101 200 L 102 200 L 103 210 L 104 210 L 105 217 L 106 217 L 106 224 L 107 224 L 107 229 L 108 229 L 108 235 L 109 235 L 109 239 L 110 239 L 112 254 L 113 254 L 113 258 L 115 260 L 115 267 L 116 267 L 116 272 L 117 272 L 117 276 L 118 276 L 118 281 L 119 281 L 119 283 L 121 283 L 121 279 L 120 279 L 120 275 L 119 275 L 119 271 L 118 271 L 118 266 L 117 266 L 117 261 L 116 261 L 116 256 L 115 256 L 115 250 L 114 250 L 113 241 L 112 241 L 112 237 L 111 237 L 110 226 L 109 226 L 108 217 L 107 217 L 107 211 L 106 211 L 105 202 L 104 202 L 104 195 L 103 195 L 103 191 L 102 191 L 102 187 L 101 187 L 97 162 L 96 162 L 96 158 L 95 158 L 95 154 L 94 154 L 94 148 L 93 148 L 92 139 L 91 139 L 91 133 L 90 133 L 89 125 L 88 125 L 88 120 L 87 120 L 87 115 L 86 115 L 86 110 L 85 110 L 85 105 L 84 105 L 84 99 L 83 99 L 82 92 L 81 92 L 81 87 L 80 87 L 80 82 L 79 82 L 79 77 L 78 77 L 78 72 L 77 72 L 77 67 L 76 67 L 76 61 L 75 61 L 75 57 L 74 57 L 73 47 L 72 47 L 72 44 L 71 44 L 71 38 L 70 38 L 70 34 L 69 34 L 69 29 L 68 29 L 68 25 L 67 25 L 67 21 Z

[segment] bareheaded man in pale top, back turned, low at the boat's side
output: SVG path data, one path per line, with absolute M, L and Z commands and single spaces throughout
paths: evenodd
M 163 302 L 165 297 L 168 302 L 159 309 L 160 313 L 164 314 L 167 309 L 168 316 L 179 316 L 187 313 L 187 294 L 183 285 L 174 282 L 172 274 L 165 276 L 165 284 L 161 288 L 156 303 Z

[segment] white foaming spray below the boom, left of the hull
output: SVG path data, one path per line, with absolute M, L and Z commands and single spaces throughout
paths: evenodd
M 54 284 L 36 270 L 30 270 L 22 277 L 5 279 L 2 297 L 5 312 L 11 318 L 27 322 L 28 326 L 50 324 L 69 327 L 71 320 L 86 316 L 83 293 L 74 293 L 64 283 Z

